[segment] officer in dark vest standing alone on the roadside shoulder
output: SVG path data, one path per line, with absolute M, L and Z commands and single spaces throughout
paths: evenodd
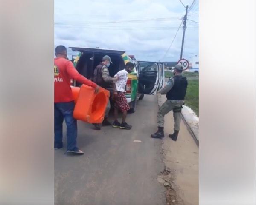
M 158 131 L 154 134 L 151 134 L 152 138 L 160 138 L 164 137 L 164 116 L 169 113 L 169 111 L 173 111 L 174 118 L 174 133 L 169 134 L 169 137 L 172 140 L 176 141 L 178 137 L 178 133 L 180 130 L 180 120 L 181 120 L 181 109 L 184 104 L 184 98 L 186 95 L 186 88 L 188 82 L 186 77 L 182 76 L 183 67 L 180 64 L 175 65 L 174 67 L 174 76 L 169 79 L 165 88 L 161 89 L 160 94 L 166 94 L 166 102 L 159 108 L 157 113 L 157 124 Z

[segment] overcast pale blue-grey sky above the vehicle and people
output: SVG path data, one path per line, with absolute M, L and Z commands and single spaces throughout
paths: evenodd
M 182 2 L 190 6 L 193 0 Z M 178 33 L 177 30 L 186 12 L 179 0 L 55 0 L 54 3 L 55 46 L 122 50 L 135 55 L 137 60 L 179 60 L 183 24 Z M 198 55 L 198 23 L 195 23 L 198 0 L 188 19 L 184 58 Z M 72 54 L 75 53 L 68 51 L 69 57 Z

